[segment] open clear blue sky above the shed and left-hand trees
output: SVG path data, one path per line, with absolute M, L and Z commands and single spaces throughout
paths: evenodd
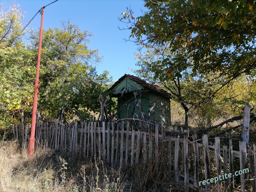
M 20 10 L 25 13 L 24 25 L 36 14 L 43 6 L 52 3 L 54 0 L 0 0 L 3 8 L 14 4 L 20 5 Z M 131 74 L 135 66 L 134 52 L 137 46 L 131 42 L 124 42 L 131 34 L 130 30 L 119 30 L 126 27 L 124 23 L 117 20 L 122 12 L 126 12 L 126 6 L 131 7 L 134 17 L 142 15 L 142 0 L 59 0 L 44 10 L 44 29 L 61 28 L 60 21 L 70 20 L 71 23 L 78 25 L 82 30 L 89 30 L 95 34 L 89 38 L 89 49 L 98 49 L 99 54 L 103 55 L 103 62 L 97 66 L 98 74 L 108 70 L 113 80 L 118 80 L 121 76 Z M 41 15 L 37 14 L 30 23 L 34 30 L 39 30 Z M 35 64 L 36 65 L 36 64 Z

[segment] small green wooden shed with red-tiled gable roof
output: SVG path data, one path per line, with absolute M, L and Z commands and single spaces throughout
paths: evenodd
M 124 74 L 109 90 L 113 91 L 112 97 L 117 98 L 117 114 L 120 119 L 137 118 L 141 119 L 141 111 L 152 123 L 169 125 L 171 122 L 171 95 L 157 85 L 149 84 L 139 77 Z M 136 102 L 133 92 L 140 92 Z M 125 105 L 131 100 L 127 105 Z M 142 109 L 142 110 L 141 110 Z

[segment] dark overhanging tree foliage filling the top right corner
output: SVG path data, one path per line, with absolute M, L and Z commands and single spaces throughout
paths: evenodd
M 156 71 L 156 76 L 166 80 L 178 76 L 176 71 L 184 71 L 188 60 L 195 75 L 255 74 L 255 2 L 145 0 L 144 6 L 148 11 L 142 16 L 135 19 L 127 9 L 120 20 L 126 19 L 130 37 L 140 46 L 172 45 L 175 57 L 163 60 L 159 65 L 165 66 L 165 73 Z

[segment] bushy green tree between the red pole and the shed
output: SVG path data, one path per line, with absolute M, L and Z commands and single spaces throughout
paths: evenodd
M 69 21 L 62 27 L 43 31 L 38 109 L 48 118 L 63 116 L 62 108 L 67 108 L 68 119 L 74 113 L 87 119 L 90 110 L 99 109 L 98 97 L 107 89 L 108 71 L 98 75 L 92 66 L 102 57 L 98 50 L 87 48 L 91 33 Z M 38 34 L 30 37 L 29 49 L 36 53 Z

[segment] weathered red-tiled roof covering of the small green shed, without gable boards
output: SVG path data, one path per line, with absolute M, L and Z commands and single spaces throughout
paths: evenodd
M 150 84 L 147 83 L 145 80 L 140 79 L 139 77 L 129 75 L 129 74 L 124 74 L 124 76 L 120 77 L 108 90 L 113 90 L 119 83 L 121 83 L 124 78 L 127 77 L 128 79 L 134 81 L 135 83 L 139 84 L 140 86 L 143 87 L 143 89 L 149 89 L 151 91 L 161 93 L 165 97 L 172 98 L 172 95 L 165 91 L 164 89 L 160 88 L 158 85 Z M 138 90 L 139 91 L 139 90 Z

